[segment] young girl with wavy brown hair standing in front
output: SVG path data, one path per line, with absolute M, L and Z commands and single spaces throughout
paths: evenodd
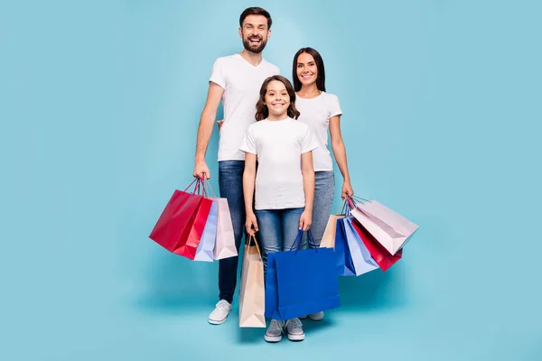
M 246 153 L 243 193 L 247 232 L 254 235 L 259 231 L 266 273 L 267 255 L 290 250 L 299 230 L 311 227 L 312 151 L 317 143 L 309 126 L 295 120 L 299 112 L 294 88 L 285 77 L 276 75 L 264 81 L 256 108 L 257 122 L 248 126 L 240 149 Z M 288 319 L 285 324 L 272 319 L 265 339 L 278 342 L 284 331 L 290 340 L 304 339 L 299 319 Z

